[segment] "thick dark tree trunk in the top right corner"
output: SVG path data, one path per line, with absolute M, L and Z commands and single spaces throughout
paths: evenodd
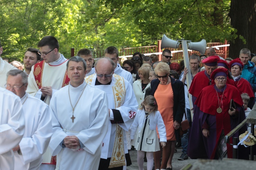
M 237 29 L 238 37 L 230 42 L 229 57 L 239 57 L 240 50 L 247 48 L 251 53 L 256 52 L 256 0 L 231 0 L 229 16 L 231 26 Z M 239 37 L 243 36 L 246 40 Z

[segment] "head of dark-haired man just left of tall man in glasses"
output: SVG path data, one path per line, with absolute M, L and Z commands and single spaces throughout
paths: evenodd
M 31 68 L 36 63 L 39 63 L 41 60 L 40 54 L 38 54 L 38 49 L 36 48 L 28 48 L 24 54 L 23 63 L 25 66 L 24 72 L 29 76 L 31 72 Z

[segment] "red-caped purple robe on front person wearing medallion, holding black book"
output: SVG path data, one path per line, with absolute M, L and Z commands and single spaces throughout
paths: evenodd
M 222 96 L 223 99 L 221 102 Z M 237 105 L 237 114 L 235 116 L 228 114 L 231 99 L 233 99 Z M 219 107 L 218 100 L 221 103 L 222 113 L 216 112 L 216 109 Z M 224 95 L 223 92 L 216 93 L 215 85 L 210 85 L 201 90 L 195 105 L 197 106 L 196 115 L 198 115 L 198 120 L 192 123 L 190 130 L 188 156 L 192 159 L 213 159 L 222 130 L 224 130 L 224 134 L 227 135 L 245 119 L 242 98 L 238 89 L 232 85 L 226 84 Z M 209 126 L 208 130 L 210 131 L 207 138 L 202 135 L 202 127 L 205 123 Z M 238 137 L 239 134 L 245 131 L 246 125 L 234 136 Z M 230 138 L 229 142 L 232 143 L 232 138 Z M 228 157 L 232 158 L 232 146 L 227 144 L 227 149 Z M 239 155 L 243 154 L 240 153 Z

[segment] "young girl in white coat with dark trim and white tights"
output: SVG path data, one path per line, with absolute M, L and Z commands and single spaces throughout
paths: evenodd
M 136 117 L 131 126 L 132 145 L 137 150 L 137 162 L 140 170 L 143 170 L 144 152 L 147 157 L 147 169 L 153 168 L 153 153 L 160 151 L 159 141 L 162 147 L 165 147 L 166 129 L 154 96 L 145 97 L 138 109 Z M 158 134 L 160 140 L 158 140 Z

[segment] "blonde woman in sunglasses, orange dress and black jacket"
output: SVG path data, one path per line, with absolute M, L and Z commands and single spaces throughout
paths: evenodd
M 151 81 L 151 95 L 158 103 L 158 110 L 166 126 L 167 137 L 166 147 L 154 153 L 155 169 L 172 170 L 171 162 L 170 165 L 167 165 L 167 162 L 169 157 L 172 159 L 176 140 L 179 140 L 180 123 L 185 112 L 184 87 L 180 80 L 169 77 L 170 67 L 167 63 L 160 62 L 155 72 L 158 79 Z

